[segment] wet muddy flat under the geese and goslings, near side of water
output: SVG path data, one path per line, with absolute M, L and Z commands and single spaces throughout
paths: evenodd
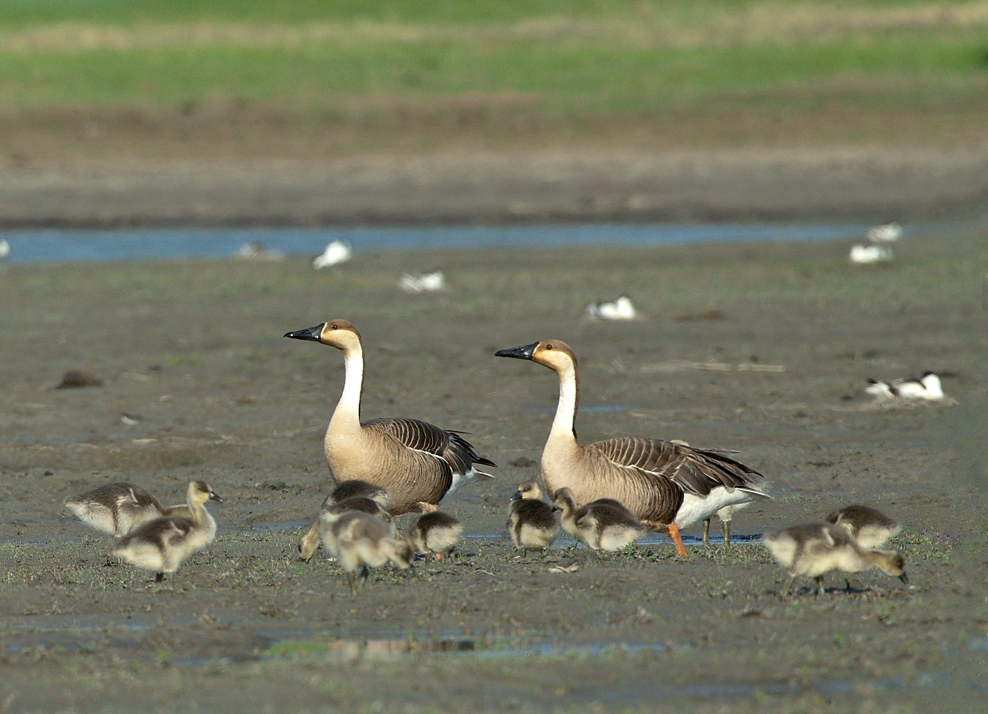
M 11 266 L 0 711 L 977 710 L 986 248 L 984 234 L 906 241 L 878 268 L 852 268 L 840 243 L 387 253 L 319 273 Z M 397 290 L 432 267 L 446 293 Z M 583 317 L 622 292 L 643 319 Z M 376 572 L 356 598 L 334 565 L 295 556 L 329 487 L 343 361 L 282 334 L 331 317 L 364 334 L 365 418 L 468 431 L 500 465 L 450 503 L 470 536 L 457 564 Z M 738 514 L 735 545 L 515 558 L 507 500 L 537 475 L 557 387 L 492 355 L 549 337 L 580 358 L 582 441 L 681 438 L 768 476 L 776 499 Z M 104 386 L 52 389 L 70 369 Z M 956 403 L 864 397 L 869 376 L 924 369 L 953 374 Z M 60 505 L 124 479 L 163 501 L 191 479 L 224 497 L 216 541 L 163 586 L 106 566 L 111 540 Z M 782 597 L 751 538 L 849 501 L 905 524 L 911 584 L 869 572 Z

